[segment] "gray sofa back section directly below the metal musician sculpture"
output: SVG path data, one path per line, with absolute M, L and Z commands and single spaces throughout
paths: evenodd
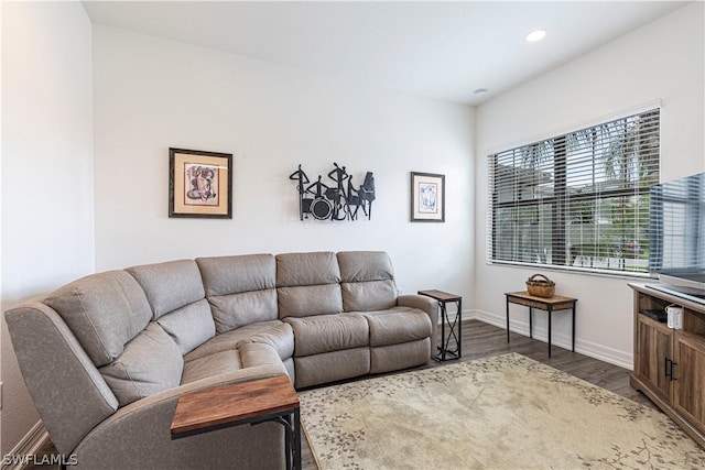
M 276 255 L 279 317 L 304 317 L 343 311 L 340 270 L 335 253 Z

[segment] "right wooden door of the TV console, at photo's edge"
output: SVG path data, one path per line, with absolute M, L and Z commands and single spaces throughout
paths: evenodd
M 705 433 L 705 341 L 677 332 L 673 352 L 673 407 Z

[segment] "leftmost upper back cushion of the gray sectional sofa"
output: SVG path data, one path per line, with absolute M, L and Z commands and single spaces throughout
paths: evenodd
M 124 271 L 91 274 L 44 299 L 58 313 L 96 367 L 112 362 L 152 313 L 144 292 Z

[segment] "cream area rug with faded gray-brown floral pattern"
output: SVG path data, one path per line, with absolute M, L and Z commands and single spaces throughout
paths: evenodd
M 668 416 L 518 353 L 300 394 L 328 469 L 696 469 Z

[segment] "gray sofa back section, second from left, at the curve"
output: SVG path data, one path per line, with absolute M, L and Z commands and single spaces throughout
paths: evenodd
M 182 354 L 215 336 L 215 324 L 195 261 L 144 264 L 126 271 L 144 289 L 152 319 L 172 337 Z

